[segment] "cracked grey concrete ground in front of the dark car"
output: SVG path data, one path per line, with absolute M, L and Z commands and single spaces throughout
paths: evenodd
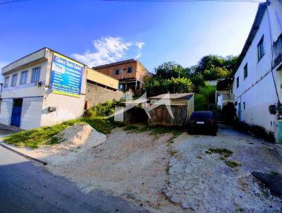
M 282 173 L 282 159 L 274 148 L 250 135 L 221 128 L 216 137 L 183 134 L 169 159 L 166 196 L 192 212 L 281 212 L 282 203 L 264 188 L 252 171 Z M 207 152 L 228 149 L 230 157 Z M 241 166 L 231 168 L 226 161 Z

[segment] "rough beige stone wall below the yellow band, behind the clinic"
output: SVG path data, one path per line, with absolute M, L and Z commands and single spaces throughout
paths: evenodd
M 124 93 L 119 90 L 113 90 L 92 83 L 86 84 L 85 101 L 87 102 L 87 109 L 106 101 L 119 101 L 123 97 Z

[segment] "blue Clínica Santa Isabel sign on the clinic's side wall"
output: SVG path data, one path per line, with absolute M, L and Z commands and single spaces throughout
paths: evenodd
M 50 89 L 61 95 L 80 97 L 83 65 L 54 53 L 52 59 Z

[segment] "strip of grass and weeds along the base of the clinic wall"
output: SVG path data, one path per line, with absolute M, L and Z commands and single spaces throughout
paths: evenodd
M 114 123 L 112 118 L 106 119 L 103 116 L 108 115 L 113 108 L 113 102 L 98 104 L 97 107 L 89 109 L 83 118 L 65 121 L 54 126 L 21 131 L 4 138 L 4 142 L 19 147 L 30 147 L 34 149 L 40 147 L 41 145 L 54 145 L 62 142 L 62 138 L 55 136 L 57 133 L 78 123 L 88 123 L 92 126 L 92 128 L 96 129 L 100 133 L 108 134 L 116 127 L 116 123 Z M 94 114 L 97 116 L 94 116 Z

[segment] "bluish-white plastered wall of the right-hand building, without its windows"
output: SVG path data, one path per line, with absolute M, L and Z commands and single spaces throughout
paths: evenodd
M 278 12 L 279 16 L 282 16 L 282 5 L 268 6 L 269 12 Z M 272 11 L 272 12 L 271 12 Z M 274 30 L 274 24 L 277 19 L 270 19 L 271 30 Z M 276 28 L 276 31 L 278 29 Z M 280 28 L 280 34 L 281 34 Z M 277 36 L 276 32 L 276 36 Z M 264 50 L 265 55 L 260 61 L 257 59 L 257 44 L 264 36 Z M 245 121 L 249 124 L 259 125 L 276 134 L 276 115 L 269 113 L 269 105 L 277 104 L 278 97 L 276 95 L 275 83 L 278 88 L 279 99 L 281 99 L 281 71 L 273 69 L 273 75 L 271 73 L 271 45 L 274 41 L 274 35 L 271 37 L 269 31 L 269 19 L 267 11 L 264 13 L 262 22 L 259 25 L 259 30 L 252 40 L 250 48 L 247 50 L 247 54 L 242 63 L 238 67 L 235 73 L 233 81 L 233 93 L 235 95 L 235 103 L 237 114 L 239 113 L 239 103 L 241 104 L 241 121 Z M 244 79 L 244 66 L 247 64 L 247 78 Z M 236 79 L 239 78 L 239 87 L 237 88 Z M 273 79 L 274 78 L 274 79 Z M 245 103 L 245 109 L 244 109 Z

